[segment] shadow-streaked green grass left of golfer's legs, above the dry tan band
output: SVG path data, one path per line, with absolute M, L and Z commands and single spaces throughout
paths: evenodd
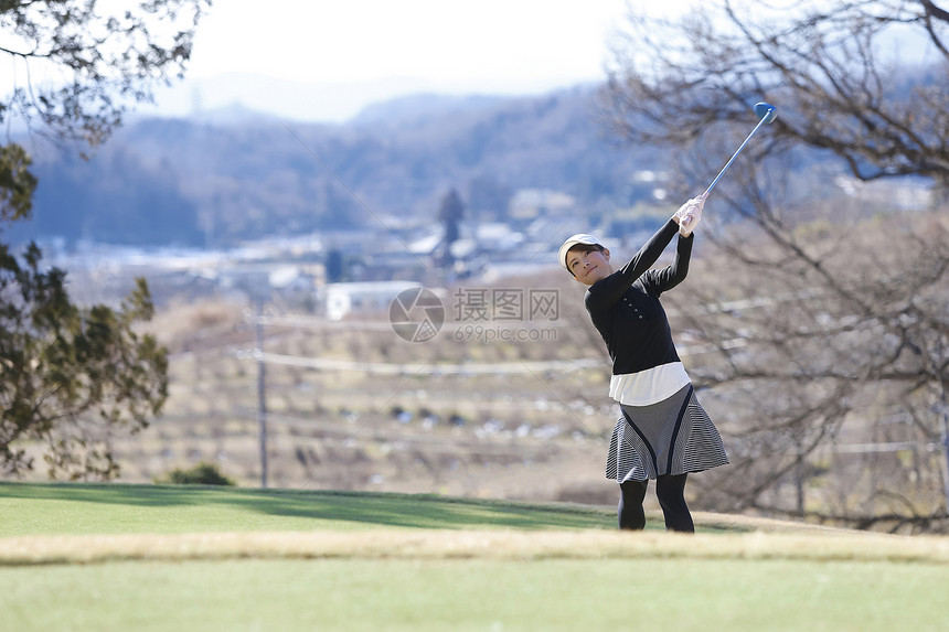
M 614 528 L 614 512 L 418 494 L 0 483 L 0 537 L 391 528 Z M 658 525 L 655 525 L 658 526 Z

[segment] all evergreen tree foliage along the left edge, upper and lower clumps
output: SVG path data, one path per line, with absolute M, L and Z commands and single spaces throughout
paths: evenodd
M 0 56 L 22 73 L 4 86 L 0 124 L 95 148 L 157 82 L 183 72 L 206 0 L 0 2 Z M 34 83 L 34 76 L 50 77 Z M 0 146 L 0 231 L 28 219 L 38 180 L 20 144 Z M 30 244 L 0 242 L 0 472 L 35 467 L 51 478 L 118 473 L 109 441 L 137 431 L 168 397 L 167 351 L 140 330 L 153 315 L 145 279 L 120 306 L 75 304 L 66 275 Z

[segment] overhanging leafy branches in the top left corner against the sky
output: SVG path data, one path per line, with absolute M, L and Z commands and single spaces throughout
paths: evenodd
M 0 58 L 14 68 L 0 122 L 19 117 L 34 132 L 95 147 L 131 106 L 151 99 L 156 84 L 180 78 L 210 1 L 128 4 L 0 2 Z

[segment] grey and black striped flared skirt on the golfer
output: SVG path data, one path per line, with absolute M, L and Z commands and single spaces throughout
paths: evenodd
M 654 480 L 728 463 L 722 437 L 691 384 L 662 401 L 621 409 L 609 442 L 607 479 Z

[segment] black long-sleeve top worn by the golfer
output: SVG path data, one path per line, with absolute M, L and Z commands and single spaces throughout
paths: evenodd
M 606 342 L 612 374 L 681 362 L 659 296 L 685 278 L 693 237 L 679 237 L 672 265 L 651 270 L 679 225 L 669 219 L 622 268 L 587 289 L 584 304 Z

